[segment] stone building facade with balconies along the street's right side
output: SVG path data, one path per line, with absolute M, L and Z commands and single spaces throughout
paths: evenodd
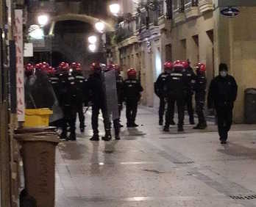
M 131 1 L 130 4 L 124 7 L 122 15 L 125 17 L 127 12 L 131 15 L 119 23 L 116 34 L 123 39 L 118 36 L 110 59 L 121 64 L 124 74 L 131 67 L 139 71 L 145 88 L 143 104 L 158 106 L 153 89 L 154 81 L 163 70 L 163 62 L 189 59 L 192 66 L 204 62 L 208 84 L 218 74 L 218 64 L 225 62 L 238 81 L 235 122 L 243 123 L 244 90 L 256 87 L 253 66 L 256 36 L 252 31 L 255 3 L 247 0 L 157 0 Z M 240 10 L 238 16 L 221 15 L 221 10 L 230 6 Z

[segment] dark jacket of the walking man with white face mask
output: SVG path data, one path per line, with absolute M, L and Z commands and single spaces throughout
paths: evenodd
M 238 85 L 232 76 L 217 76 L 210 83 L 208 92 L 208 108 L 233 107 L 238 94 Z

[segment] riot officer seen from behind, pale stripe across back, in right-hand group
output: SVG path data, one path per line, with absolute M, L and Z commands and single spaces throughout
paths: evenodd
M 166 125 L 163 131 L 169 131 L 170 117 L 174 117 L 174 105 L 178 108 L 178 131 L 184 131 L 184 102 L 186 90 L 188 88 L 188 77 L 183 68 L 182 62 L 177 60 L 174 62 L 173 70 L 166 81 L 168 109 L 166 113 Z

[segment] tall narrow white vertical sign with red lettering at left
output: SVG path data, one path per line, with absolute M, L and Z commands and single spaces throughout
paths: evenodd
M 17 116 L 19 122 L 25 120 L 24 98 L 24 50 L 23 50 L 23 14 L 15 10 L 14 37 L 16 47 Z

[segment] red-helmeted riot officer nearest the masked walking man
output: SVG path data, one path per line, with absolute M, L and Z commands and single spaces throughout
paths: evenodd
M 196 82 L 194 84 L 195 100 L 196 100 L 196 114 L 199 123 L 193 129 L 205 129 L 207 123 L 205 120 L 204 107 L 205 107 L 205 94 L 207 80 L 205 77 L 205 64 L 199 62 L 196 65 Z

